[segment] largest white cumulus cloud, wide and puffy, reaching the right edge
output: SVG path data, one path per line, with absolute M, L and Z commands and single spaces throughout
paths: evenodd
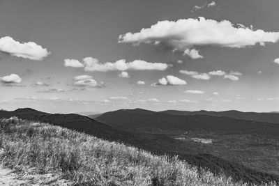
M 277 42 L 279 32 L 268 32 L 252 29 L 240 24 L 232 24 L 228 20 L 206 20 L 204 17 L 175 21 L 160 21 L 148 29 L 137 33 L 126 33 L 119 36 L 119 42 L 140 45 L 148 43 L 167 46 L 173 51 L 187 52 L 199 46 L 216 46 L 242 48 L 265 45 L 266 42 Z M 195 50 L 194 50 L 195 51 Z

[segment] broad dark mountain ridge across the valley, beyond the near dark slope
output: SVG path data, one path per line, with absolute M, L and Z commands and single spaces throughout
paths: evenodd
M 209 111 L 156 112 L 144 109 L 120 109 L 102 114 L 96 120 L 122 130 L 204 130 L 207 132 L 236 134 L 279 134 L 278 124 L 244 120 L 233 116 L 221 116 L 218 113 L 216 114 L 217 116 L 209 116 L 210 113 Z M 277 115 L 279 116 L 279 114 Z

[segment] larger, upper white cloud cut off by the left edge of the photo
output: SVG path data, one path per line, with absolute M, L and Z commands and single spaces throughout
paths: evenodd
M 38 61 L 43 60 L 50 54 L 47 49 L 37 45 L 36 42 L 20 43 L 9 36 L 0 38 L 0 51 L 6 52 L 11 56 Z

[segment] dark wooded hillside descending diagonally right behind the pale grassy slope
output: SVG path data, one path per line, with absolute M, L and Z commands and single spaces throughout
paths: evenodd
M 193 146 L 188 146 L 182 141 L 172 139 L 164 134 L 125 132 L 77 114 L 47 114 L 28 108 L 17 109 L 16 111 L 0 111 L 0 118 L 9 118 L 10 116 L 51 123 L 52 125 L 77 130 L 109 141 L 120 141 L 128 144 L 128 146 L 136 146 L 156 155 L 179 155 L 181 160 L 186 160 L 191 165 L 202 166 L 217 174 L 220 172 L 225 173 L 226 176 L 232 177 L 235 181 L 244 180 L 255 184 L 269 183 L 271 180 L 279 182 L 279 178 L 274 175 L 247 169 L 241 164 L 229 162 L 207 153 L 191 155 L 190 152 L 193 151 Z

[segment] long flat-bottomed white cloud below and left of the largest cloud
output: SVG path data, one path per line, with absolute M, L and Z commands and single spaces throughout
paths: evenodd
M 166 63 L 149 63 L 142 60 L 135 60 L 126 63 L 125 59 L 116 61 L 115 63 L 100 63 L 98 59 L 86 57 L 83 59 L 85 71 L 107 72 L 110 70 L 166 70 Z

